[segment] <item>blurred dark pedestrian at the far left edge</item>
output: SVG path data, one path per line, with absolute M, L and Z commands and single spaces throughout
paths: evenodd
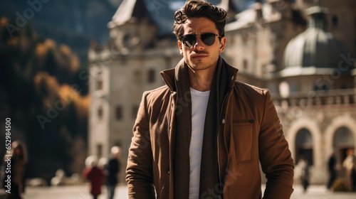
M 6 199 L 21 199 L 21 194 L 25 192 L 25 171 L 27 164 L 27 151 L 26 146 L 21 141 L 14 141 L 11 144 L 9 154 L 4 156 L 4 164 L 1 168 L 1 183 L 6 188 L 7 176 L 10 176 L 11 186 L 10 193 L 6 194 Z M 11 173 L 3 173 L 6 168 L 11 168 Z

